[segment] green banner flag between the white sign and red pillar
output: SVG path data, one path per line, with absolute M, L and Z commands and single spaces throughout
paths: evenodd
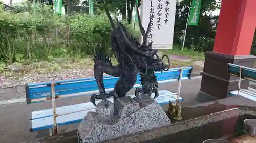
M 191 26 L 197 26 L 201 11 L 201 4 L 202 0 L 191 0 L 191 6 L 190 6 L 190 14 L 189 14 L 189 20 L 188 25 Z

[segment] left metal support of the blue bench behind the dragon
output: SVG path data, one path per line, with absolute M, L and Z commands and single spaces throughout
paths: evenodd
M 55 83 L 51 84 L 52 88 L 52 109 L 53 109 L 53 134 L 58 133 L 58 127 L 57 127 L 57 114 L 56 114 L 56 101 L 55 101 Z

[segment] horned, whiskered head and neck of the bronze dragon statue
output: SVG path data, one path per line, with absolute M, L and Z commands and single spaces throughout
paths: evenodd
M 138 21 L 140 32 L 143 37 L 143 42 L 140 44 L 133 36 L 131 36 L 125 26 L 117 21 L 117 26 L 114 25 L 114 22 L 109 14 L 109 11 L 106 9 L 106 14 L 110 20 L 111 27 L 113 29 L 113 34 L 117 37 L 117 44 L 119 45 L 120 51 L 131 60 L 135 65 L 135 68 L 141 74 L 147 74 L 147 70 L 153 71 L 167 71 L 170 67 L 170 61 L 167 55 L 164 55 L 162 59 L 157 55 L 158 50 L 152 48 L 152 42 L 147 44 L 148 34 L 150 33 L 151 20 L 148 23 L 147 30 L 145 31 L 141 24 L 141 19 L 139 15 L 139 8 L 137 6 Z M 166 57 L 168 64 L 164 64 L 163 58 Z M 134 63 L 135 62 L 135 63 Z

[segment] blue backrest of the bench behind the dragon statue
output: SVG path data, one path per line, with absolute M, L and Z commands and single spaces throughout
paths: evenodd
M 182 77 L 181 80 L 190 79 L 192 69 L 193 67 L 173 68 L 162 73 L 156 72 L 155 74 L 157 76 L 158 83 L 175 82 L 179 81 L 180 76 Z M 181 71 L 182 74 L 180 75 Z M 103 76 L 105 90 L 107 92 L 113 90 L 117 80 L 118 77 L 109 75 Z M 141 87 L 140 83 L 141 81 L 138 75 L 133 88 Z M 98 86 L 94 77 L 32 83 L 26 84 L 25 88 L 27 104 L 51 100 L 53 92 L 55 94 L 55 99 L 84 95 L 91 96 L 92 94 L 98 93 Z

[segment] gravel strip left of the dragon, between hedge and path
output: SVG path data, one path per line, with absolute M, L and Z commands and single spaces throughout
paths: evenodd
M 25 74 L 19 78 L 14 77 L 0 77 L 0 88 L 14 88 L 19 85 L 24 85 L 26 83 L 38 83 L 45 81 L 56 81 L 63 79 L 74 79 L 74 78 L 84 78 L 92 77 L 93 69 L 65 69 L 62 71 L 52 71 L 47 74 Z

